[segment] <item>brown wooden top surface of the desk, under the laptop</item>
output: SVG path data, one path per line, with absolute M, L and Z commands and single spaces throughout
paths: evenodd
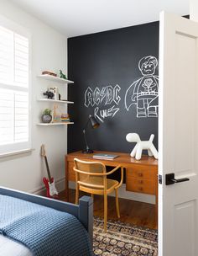
M 93 158 L 93 155 L 97 153 L 115 154 L 118 157 L 112 160 L 107 158 L 105 159 Z M 136 160 L 135 157 L 131 157 L 129 153 L 123 153 L 123 152 L 94 151 L 94 153 L 92 154 L 84 154 L 81 151 L 77 151 L 77 152 L 69 153 L 68 155 L 66 155 L 66 157 L 68 158 L 68 160 L 70 160 L 70 158 L 73 159 L 73 157 L 79 157 L 84 160 L 94 160 L 94 161 L 109 162 L 109 163 L 113 162 L 113 163 L 128 163 L 128 164 L 133 163 L 133 164 L 156 165 L 156 166 L 158 165 L 158 160 L 155 159 L 154 157 L 148 157 L 143 155 L 140 160 Z

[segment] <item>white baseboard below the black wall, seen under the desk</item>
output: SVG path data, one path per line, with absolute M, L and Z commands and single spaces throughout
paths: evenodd
M 70 181 L 69 182 L 69 188 L 75 189 L 76 183 Z M 110 194 L 110 196 L 115 196 L 114 193 Z M 129 199 L 129 200 L 135 200 L 140 201 L 148 204 L 155 204 L 155 196 L 154 195 L 145 195 L 141 193 L 133 193 L 126 190 L 126 184 L 122 184 L 121 188 L 119 188 L 119 198 Z

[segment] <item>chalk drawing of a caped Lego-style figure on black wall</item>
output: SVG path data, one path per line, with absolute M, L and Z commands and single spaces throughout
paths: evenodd
M 158 116 L 159 77 L 154 75 L 158 60 L 154 56 L 144 56 L 138 62 L 138 68 L 143 77 L 130 85 L 125 94 L 127 110 L 136 104 L 137 117 Z

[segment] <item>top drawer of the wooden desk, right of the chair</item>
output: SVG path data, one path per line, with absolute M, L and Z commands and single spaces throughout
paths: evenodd
M 136 179 L 156 179 L 157 172 L 157 168 L 155 167 L 147 165 L 134 165 L 133 168 L 127 168 L 127 179 L 129 177 Z

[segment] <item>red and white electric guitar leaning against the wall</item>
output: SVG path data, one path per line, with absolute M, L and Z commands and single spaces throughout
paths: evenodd
M 41 156 L 44 157 L 44 161 L 45 161 L 47 173 L 48 173 L 48 179 L 45 177 L 43 178 L 44 186 L 47 191 L 47 197 L 58 199 L 59 198 L 58 191 L 55 188 L 55 179 L 50 176 L 50 168 L 48 165 L 47 157 L 45 155 L 44 145 L 41 146 Z

